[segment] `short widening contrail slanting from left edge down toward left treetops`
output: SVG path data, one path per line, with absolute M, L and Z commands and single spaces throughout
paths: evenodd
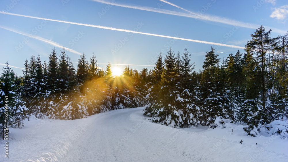
M 8 31 L 12 31 L 12 32 L 14 32 L 14 33 L 18 33 L 18 34 L 21 34 L 21 35 L 25 35 L 25 36 L 27 36 L 27 37 L 35 38 L 35 39 L 38 39 L 39 41 L 43 41 L 43 42 L 46 43 L 46 44 L 50 44 L 50 45 L 53 45 L 53 46 L 56 46 L 56 47 L 60 47 L 60 48 L 65 48 L 67 51 L 73 52 L 74 54 L 81 55 L 79 52 L 77 52 L 77 51 L 75 51 L 75 50 L 73 50 L 73 49 L 64 47 L 64 46 L 60 45 L 59 43 L 56 43 L 56 42 L 54 42 L 54 41 L 50 41 L 50 40 L 48 40 L 48 39 L 39 37 L 39 36 L 37 36 L 37 35 L 27 34 L 27 33 L 24 33 L 24 32 L 20 32 L 20 31 L 16 31 L 16 30 L 13 30 L 13 29 L 5 28 L 5 27 L 3 27 L 3 26 L 0 26 L 0 28 L 6 29 L 6 30 L 8 30 Z M 11 66 L 11 67 L 12 67 L 12 66 Z

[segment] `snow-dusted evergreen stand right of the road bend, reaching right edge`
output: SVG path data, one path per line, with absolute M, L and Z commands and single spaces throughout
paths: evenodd
M 245 54 L 238 50 L 220 61 L 211 47 L 196 73 L 187 48 L 180 59 L 168 51 L 152 71 L 144 115 L 171 127 L 215 127 L 217 117 L 248 125 L 251 131 L 287 118 L 288 33 L 270 37 L 263 26 L 251 34 Z M 159 93 L 160 92 L 160 93 Z

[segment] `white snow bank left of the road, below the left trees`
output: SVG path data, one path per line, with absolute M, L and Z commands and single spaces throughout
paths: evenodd
M 0 148 L 0 161 L 63 161 L 67 153 L 81 141 L 92 121 L 38 119 L 34 115 L 25 120 L 22 129 L 10 128 L 9 158 Z M 1 146 L 4 141 L 1 140 Z

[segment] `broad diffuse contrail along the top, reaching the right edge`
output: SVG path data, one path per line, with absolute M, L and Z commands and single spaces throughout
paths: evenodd
M 240 21 L 231 20 L 231 19 L 228 19 L 228 18 L 222 18 L 222 17 L 219 17 L 219 16 L 213 16 L 213 15 L 209 15 L 209 14 L 197 14 L 195 12 L 189 12 L 190 14 L 186 14 L 186 13 L 183 13 L 183 12 L 170 11 L 170 10 L 167 10 L 167 9 L 158 9 L 158 8 L 153 8 L 153 7 L 111 3 L 111 2 L 108 2 L 108 1 L 104 1 L 104 0 L 91 0 L 91 1 L 104 3 L 104 4 L 109 4 L 109 5 L 120 6 L 120 7 L 126 7 L 126 8 L 132 8 L 132 9 L 140 9 L 140 10 L 144 10 L 144 11 L 157 12 L 157 13 L 162 13 L 162 14 L 169 14 L 169 15 L 188 17 L 188 18 L 195 18 L 195 19 L 204 20 L 204 21 L 219 22 L 219 23 L 222 23 L 222 24 L 228 24 L 228 25 L 239 26 L 239 27 L 250 28 L 250 29 L 257 29 L 260 26 L 260 25 L 256 25 L 256 24 L 251 24 L 251 23 L 247 23 L 247 22 L 240 22 Z M 264 27 L 268 28 L 268 29 L 272 29 L 273 31 L 275 31 L 277 33 L 280 33 L 280 34 L 287 33 L 287 31 L 284 31 L 284 30 L 281 30 L 281 29 L 272 28 L 272 27 L 268 27 L 268 26 L 264 26 Z

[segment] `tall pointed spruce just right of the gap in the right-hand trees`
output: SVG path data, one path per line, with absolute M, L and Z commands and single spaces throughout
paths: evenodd
M 230 107 L 229 90 L 226 85 L 226 69 L 224 61 L 219 68 L 219 56 L 215 55 L 214 48 L 211 47 L 206 52 L 206 58 L 203 64 L 201 91 L 202 91 L 202 119 L 201 122 L 212 127 L 215 119 L 219 116 L 233 119 L 234 114 Z

